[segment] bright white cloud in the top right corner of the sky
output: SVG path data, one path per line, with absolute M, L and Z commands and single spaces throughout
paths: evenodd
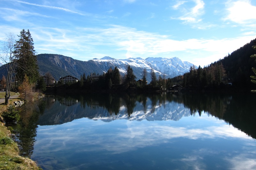
M 238 24 L 253 23 L 256 21 L 256 6 L 251 4 L 249 0 L 239 0 L 227 3 L 228 16 L 225 20 L 231 20 Z

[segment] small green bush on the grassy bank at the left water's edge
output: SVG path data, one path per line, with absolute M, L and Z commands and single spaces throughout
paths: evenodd
M 6 111 L 2 113 L 5 123 L 14 123 L 20 120 L 20 108 L 10 105 Z

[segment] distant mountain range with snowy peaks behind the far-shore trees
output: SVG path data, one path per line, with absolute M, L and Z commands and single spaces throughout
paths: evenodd
M 157 78 L 159 75 L 162 77 L 164 75 L 165 78 L 173 78 L 183 75 L 193 66 L 192 63 L 183 62 L 178 57 L 115 59 L 105 56 L 101 59 L 94 58 L 88 61 L 80 61 L 58 54 L 39 54 L 37 55 L 37 64 L 41 75 L 49 71 L 56 80 L 68 75 L 80 78 L 84 73 L 86 76 L 91 73 L 101 75 L 103 72 L 106 73 L 110 67 L 112 67 L 112 69 L 117 67 L 121 76 L 124 76 L 128 65 L 130 65 L 137 80 L 142 78 L 142 72 L 145 68 L 148 72 L 147 79 L 150 81 L 149 73 L 151 69 L 154 70 Z

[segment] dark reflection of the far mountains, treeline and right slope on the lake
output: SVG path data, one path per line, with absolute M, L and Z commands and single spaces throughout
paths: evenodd
M 85 93 L 47 96 L 39 125 L 55 125 L 87 117 L 105 122 L 116 119 L 178 121 L 206 113 L 256 138 L 254 94 L 225 93 Z

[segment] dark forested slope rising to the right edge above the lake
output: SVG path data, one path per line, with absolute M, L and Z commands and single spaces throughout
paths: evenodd
M 255 85 L 251 82 L 254 75 L 255 54 L 252 48 L 256 39 L 228 54 L 223 59 L 198 69 L 190 67 L 189 72 L 171 79 L 173 84 L 181 85 L 187 90 L 243 90 L 250 91 Z

